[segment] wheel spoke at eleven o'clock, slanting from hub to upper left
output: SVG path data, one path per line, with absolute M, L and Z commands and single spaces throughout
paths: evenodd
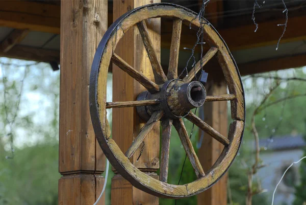
M 139 33 L 142 37 L 144 47 L 147 51 L 148 57 L 150 59 L 152 69 L 154 72 L 155 82 L 158 84 L 166 82 L 168 79 L 163 71 L 162 65 L 159 61 L 157 53 L 153 47 L 152 41 L 149 37 L 148 29 L 146 27 L 145 21 L 142 20 L 137 24 Z

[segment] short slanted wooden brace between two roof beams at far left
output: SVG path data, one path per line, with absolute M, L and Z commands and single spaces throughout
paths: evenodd
M 14 29 L 1 43 L 0 51 L 6 53 L 17 43 L 21 42 L 25 36 L 29 33 L 28 29 Z

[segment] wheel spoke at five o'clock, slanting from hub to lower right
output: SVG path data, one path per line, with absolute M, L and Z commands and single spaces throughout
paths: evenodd
M 186 154 L 190 160 L 190 163 L 195 171 L 195 174 L 198 178 L 205 176 L 205 173 L 203 171 L 203 168 L 200 164 L 200 161 L 193 149 L 192 143 L 189 139 L 186 127 L 184 125 L 183 119 L 173 120 L 173 125 L 175 129 L 177 130 L 177 133 L 179 133 L 181 142 L 183 144 L 183 147 L 186 151 Z

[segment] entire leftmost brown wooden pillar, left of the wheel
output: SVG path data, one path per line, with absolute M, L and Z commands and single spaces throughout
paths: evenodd
M 88 86 L 93 56 L 106 29 L 107 1 L 61 1 L 61 205 L 93 204 L 103 188 L 105 156 L 91 124 Z

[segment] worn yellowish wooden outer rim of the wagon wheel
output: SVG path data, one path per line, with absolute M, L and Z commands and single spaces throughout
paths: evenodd
M 146 17 L 143 18 L 143 16 Z M 195 29 L 200 26 L 198 20 L 194 20 L 196 17 L 196 13 L 184 7 L 166 3 L 151 4 L 139 7 L 117 19 L 105 33 L 103 39 L 98 45 L 97 51 L 94 56 L 91 68 L 89 87 L 91 119 L 97 141 L 100 147 L 103 149 L 105 155 L 109 158 L 111 164 L 118 171 L 118 173 L 120 173 L 125 179 L 129 180 L 133 186 L 159 197 L 188 197 L 205 191 L 206 189 L 214 185 L 227 171 L 227 169 L 232 164 L 235 156 L 237 155 L 242 140 L 245 120 L 243 87 L 237 65 L 235 64 L 232 55 L 228 51 L 225 42 L 211 25 L 205 25 L 205 40 L 211 48 L 217 49 L 217 51 L 214 52 L 213 56 L 215 54 L 217 55 L 217 58 L 225 76 L 225 81 L 228 86 L 228 90 L 230 91 L 230 95 L 227 95 L 227 97 L 228 99 L 231 99 L 232 119 L 234 120 L 234 122 L 230 125 L 230 130 L 228 132 L 227 140 L 229 142 L 227 143 L 227 141 L 222 138 L 219 139 L 218 141 L 226 146 L 224 147 L 216 163 L 208 171 L 208 173 L 203 174 L 201 173 L 202 170 L 198 168 L 199 172 L 197 173 L 197 175 L 199 176 L 199 178 L 186 185 L 167 184 L 137 169 L 130 162 L 129 158 L 127 158 L 122 153 L 122 151 L 114 142 L 114 140 L 110 138 L 110 129 L 106 119 L 106 81 L 108 67 L 111 63 L 111 59 L 113 62 L 116 60 L 114 59 L 113 55 L 114 50 L 116 48 L 117 42 L 122 38 L 124 33 L 137 23 L 143 22 L 144 19 L 156 17 L 181 19 L 183 21 L 183 24 L 186 24 L 188 26 L 191 25 Z M 212 54 L 212 52 L 210 54 Z M 172 78 L 173 77 L 174 76 L 172 76 Z M 170 77 L 168 76 L 168 78 Z M 192 76 L 189 75 L 188 77 L 185 77 L 183 81 L 190 82 L 191 79 Z M 161 76 L 161 81 L 165 81 L 165 78 L 163 78 L 163 76 Z M 156 93 L 157 90 L 160 89 L 159 86 L 156 86 L 155 84 L 145 85 L 145 87 L 151 93 Z M 235 98 L 233 98 L 233 96 L 235 96 Z M 208 98 L 207 101 L 211 101 L 211 99 Z M 155 102 L 151 101 L 150 103 L 153 104 Z M 162 112 L 163 111 L 154 112 L 155 116 L 154 118 L 151 116 L 151 118 L 155 120 L 160 120 L 163 116 Z M 193 123 L 199 123 L 200 121 L 199 118 L 197 118 L 192 112 L 190 112 L 186 116 L 186 118 Z M 166 128 L 171 123 L 172 122 L 170 122 L 170 120 L 164 120 L 162 121 L 162 127 L 164 126 L 164 128 Z M 181 118 L 173 121 L 174 127 L 177 129 L 178 132 L 180 132 L 179 130 L 181 130 L 183 135 L 186 132 L 186 129 L 184 129 L 185 126 L 184 123 L 183 125 L 182 123 L 183 121 Z M 206 126 L 207 124 L 203 124 L 201 122 L 201 125 Z M 205 129 L 205 127 L 200 128 Z M 213 132 L 213 130 L 211 131 Z M 218 138 L 217 133 L 211 134 L 216 135 L 215 139 Z M 161 167 L 162 166 L 165 165 L 162 165 L 161 163 Z M 198 165 L 196 165 L 195 163 L 194 166 Z M 164 180 L 163 177 L 161 177 L 161 180 Z

